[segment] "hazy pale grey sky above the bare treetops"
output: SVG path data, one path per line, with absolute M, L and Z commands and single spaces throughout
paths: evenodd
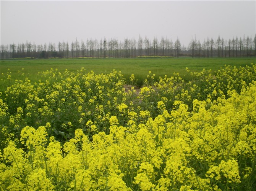
M 256 0 L 246 1 L 11 1 L 1 3 L 1 43 L 71 43 L 147 36 L 177 37 L 187 46 L 256 33 Z

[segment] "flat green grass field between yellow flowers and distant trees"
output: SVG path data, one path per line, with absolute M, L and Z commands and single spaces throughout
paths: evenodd
M 40 79 L 38 72 L 50 70 L 50 68 L 58 69 L 59 72 L 68 69 L 76 71 L 84 67 L 88 72 L 109 73 L 112 70 L 121 71 L 124 77 L 129 80 L 133 73 L 138 79 L 138 85 L 146 79 L 149 70 L 159 76 L 168 77 L 173 73 L 179 73 L 183 78 L 189 78 L 185 70 L 189 68 L 191 72 L 199 72 L 204 68 L 212 71 L 218 70 L 224 65 L 232 65 L 244 67 L 256 63 L 255 57 L 245 58 L 134 58 L 134 59 L 10 59 L 0 60 L 0 72 L 11 72 L 13 79 L 24 80 L 28 77 L 32 81 Z M 22 70 L 22 68 L 24 68 Z M 9 70 L 8 70 L 9 69 Z M 21 75 L 21 72 L 24 75 Z M 3 76 L 1 76 L 2 78 Z M 1 85 L 3 87 L 3 84 Z

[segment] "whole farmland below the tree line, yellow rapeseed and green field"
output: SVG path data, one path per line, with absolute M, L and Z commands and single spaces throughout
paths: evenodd
M 255 61 L 1 60 L 0 189 L 255 190 Z

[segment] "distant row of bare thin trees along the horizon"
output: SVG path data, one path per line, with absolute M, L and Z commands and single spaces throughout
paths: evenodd
M 71 43 L 59 42 L 44 43 L 36 45 L 26 41 L 26 43 L 1 45 L 0 59 L 10 58 L 130 58 L 144 56 L 167 56 L 167 57 L 256 57 L 256 34 L 252 37 L 236 37 L 224 40 L 220 36 L 217 40 L 207 38 L 203 42 L 192 37 L 188 46 L 181 46 L 179 38 L 175 41 L 164 38 L 152 41 L 147 37 L 139 39 L 125 38 L 118 41 L 111 39 L 87 39 L 78 41 L 77 38 Z

